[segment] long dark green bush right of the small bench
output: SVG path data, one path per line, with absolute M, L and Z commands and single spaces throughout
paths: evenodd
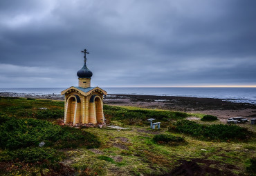
M 227 140 L 245 140 L 250 137 L 250 133 L 246 128 L 241 128 L 235 125 L 202 125 L 196 124 L 194 121 L 181 120 L 176 121 L 169 128 L 170 131 L 181 132 L 199 139 L 206 140 L 217 140 L 217 141 L 227 141 Z

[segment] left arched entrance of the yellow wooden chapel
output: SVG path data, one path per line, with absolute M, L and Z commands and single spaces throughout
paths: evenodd
M 80 97 L 78 95 L 71 95 L 66 100 L 66 115 L 64 118 L 64 123 L 73 122 L 77 124 L 81 122 L 80 112 L 81 112 L 81 103 Z

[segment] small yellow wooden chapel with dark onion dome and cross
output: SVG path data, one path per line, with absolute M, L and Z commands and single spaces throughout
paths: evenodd
M 104 124 L 103 95 L 107 92 L 99 87 L 91 87 L 93 72 L 86 66 L 86 49 L 84 66 L 77 71 L 78 86 L 71 86 L 61 92 L 65 95 L 64 124 Z

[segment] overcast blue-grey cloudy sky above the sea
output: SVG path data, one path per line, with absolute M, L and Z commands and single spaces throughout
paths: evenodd
M 0 87 L 256 86 L 256 1 L 1 0 Z

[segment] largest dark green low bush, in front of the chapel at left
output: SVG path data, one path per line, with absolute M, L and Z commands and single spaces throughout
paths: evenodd
M 95 148 L 100 141 L 95 135 L 85 131 L 53 125 L 39 119 L 10 118 L 0 125 L 0 147 L 15 150 L 38 146 L 44 141 L 46 146 L 55 148 Z

